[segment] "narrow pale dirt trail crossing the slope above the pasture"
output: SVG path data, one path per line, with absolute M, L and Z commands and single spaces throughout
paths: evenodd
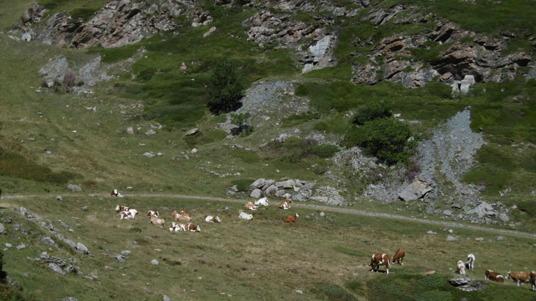
M 26 195 L 15 195 L 15 196 L 2 196 L 2 200 L 6 199 L 29 199 L 29 198 L 37 198 L 37 197 L 54 197 L 56 194 L 26 194 Z M 108 194 L 91 194 L 92 196 L 108 196 Z M 62 194 L 62 196 L 85 196 L 84 194 Z M 163 198 L 175 198 L 175 199 L 195 199 L 195 200 L 203 200 L 203 201 L 223 201 L 223 202 L 230 202 L 230 203 L 244 203 L 246 199 L 225 199 L 221 197 L 215 197 L 215 196 L 194 196 L 194 195 L 186 195 L 186 194 L 126 194 L 124 196 L 140 196 L 140 197 L 163 197 Z M 485 226 L 475 226 L 471 224 L 461 224 L 456 222 L 440 222 L 435 220 L 429 220 L 429 219 L 419 219 L 416 217 L 405 217 L 403 215 L 394 215 L 389 213 L 378 213 L 368 210 L 357 210 L 357 209 L 350 209 L 350 208 L 344 208 L 344 207 L 330 207 L 330 206 L 321 206 L 321 205 L 313 205 L 308 203 L 293 203 L 294 207 L 297 208 L 308 208 L 313 210 L 322 210 L 327 212 L 337 212 L 337 213 L 348 213 L 351 215 L 361 215 L 361 216 L 368 216 L 368 217 L 379 217 L 383 219 L 396 219 L 396 220 L 403 220 L 408 222 L 419 222 L 422 224 L 430 224 L 434 226 L 445 226 L 448 228 L 463 228 L 463 229 L 472 229 L 477 231 L 485 231 L 489 233 L 496 233 L 501 235 L 507 235 L 507 236 L 517 236 L 522 238 L 534 238 L 536 239 L 536 233 L 529 233 L 529 232 L 523 232 L 523 231 L 516 231 L 516 230 L 507 230 L 507 229 L 496 229 L 496 228 L 489 228 Z

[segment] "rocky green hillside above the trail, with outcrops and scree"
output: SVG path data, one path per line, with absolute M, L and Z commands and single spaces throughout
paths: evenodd
M 41 0 L 7 33 L 69 49 L 70 56 L 40 66 L 38 93 L 73 91 L 92 112 L 112 103 L 110 113 L 120 114 L 126 129 L 119 133 L 132 137 L 190 130 L 170 155 L 143 153 L 172 164 L 195 161 L 189 168 L 217 177 L 218 194 L 334 205 L 406 201 L 422 215 L 516 226 L 512 208 L 530 213 L 533 203 L 511 198 L 535 194 L 519 181 L 536 172 L 536 38 L 519 26 L 530 20 L 523 11 L 530 6 L 401 2 L 110 0 L 85 8 Z M 504 19 L 497 10 L 519 21 L 497 24 Z M 483 17 L 470 22 L 475 11 Z M 222 56 L 237 63 L 249 86 L 237 114 L 248 114 L 250 136 L 233 134 L 230 114 L 207 114 L 206 82 Z M 85 105 L 93 98 L 98 104 Z M 380 98 L 393 102 L 389 116 L 413 131 L 405 162 L 348 147 L 353 118 Z M 208 152 L 222 148 L 232 161 L 214 164 Z M 253 184 L 265 178 L 300 184 Z M 298 178 L 314 187 L 301 190 Z

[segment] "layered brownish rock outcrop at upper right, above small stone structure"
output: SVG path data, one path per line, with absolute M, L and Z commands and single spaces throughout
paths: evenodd
M 431 15 L 420 13 L 417 6 L 397 5 L 371 10 L 364 20 L 378 26 L 387 22 L 436 22 L 436 25 L 427 33 L 380 40 L 367 55 L 368 63 L 352 66 L 352 82 L 376 84 L 387 79 L 415 88 L 431 82 L 436 75 L 441 75 L 440 80 L 447 84 L 462 81 L 466 75 L 474 76 L 476 82 L 502 82 L 514 79 L 518 68 L 528 65 L 532 59 L 525 52 L 504 54 L 502 51 L 507 48 L 507 43 L 503 40 L 463 30 L 453 22 L 430 19 Z M 373 43 L 368 39 L 356 41 L 357 47 L 369 47 Z M 411 49 L 427 47 L 425 43 L 447 43 L 450 46 L 426 67 L 423 62 L 415 61 L 411 53 Z

